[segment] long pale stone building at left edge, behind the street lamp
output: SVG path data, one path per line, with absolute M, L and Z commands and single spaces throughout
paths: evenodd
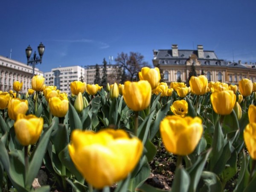
M 13 82 L 20 81 L 23 82 L 20 93 L 26 93 L 31 88 L 32 70 L 27 64 L 0 55 L 0 90 L 9 92 L 13 90 Z M 35 75 L 43 76 L 43 73 L 35 68 Z

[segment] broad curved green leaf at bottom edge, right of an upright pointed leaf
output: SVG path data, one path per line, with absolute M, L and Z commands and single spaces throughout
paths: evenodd
M 199 190 L 200 192 L 221 192 L 222 185 L 219 177 L 212 172 L 202 172 L 201 180 L 203 186 Z

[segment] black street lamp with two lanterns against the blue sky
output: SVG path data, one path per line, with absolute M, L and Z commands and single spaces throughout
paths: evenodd
M 32 68 L 33 68 L 33 72 L 32 72 L 32 75 L 34 76 L 35 75 L 35 65 L 38 64 L 38 63 L 42 63 L 42 57 L 43 57 L 43 54 L 44 54 L 44 45 L 42 44 L 42 42 L 39 44 L 38 46 L 38 53 L 39 53 L 39 57 L 36 56 L 36 52 L 34 52 L 34 56 L 33 58 L 30 58 L 31 56 L 31 53 L 32 53 L 32 48 L 30 47 L 30 45 L 26 48 L 26 57 L 27 57 L 27 65 L 31 64 L 32 65 Z

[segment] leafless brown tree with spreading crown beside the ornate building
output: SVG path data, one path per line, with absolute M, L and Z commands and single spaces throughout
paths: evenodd
M 130 52 L 130 55 L 124 52 L 118 53 L 115 61 L 117 65 L 127 71 L 130 81 L 138 80 L 138 73 L 142 67 L 150 67 L 148 62 L 144 61 L 144 56 L 139 52 Z

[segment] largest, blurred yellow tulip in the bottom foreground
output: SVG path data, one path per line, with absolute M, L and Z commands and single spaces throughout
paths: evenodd
M 140 160 L 143 144 L 121 129 L 104 129 L 98 133 L 75 130 L 68 150 L 85 180 L 102 189 L 127 177 Z

